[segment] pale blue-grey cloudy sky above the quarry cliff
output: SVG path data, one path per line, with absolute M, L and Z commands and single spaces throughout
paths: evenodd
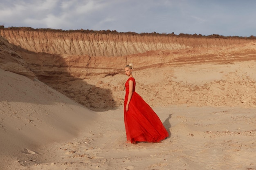
M 256 36 L 256 0 L 1 0 L 0 25 Z

